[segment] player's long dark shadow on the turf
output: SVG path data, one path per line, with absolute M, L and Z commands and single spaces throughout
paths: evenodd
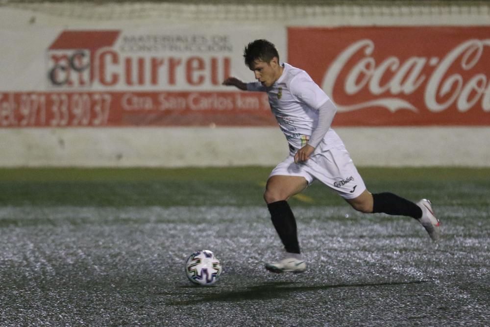
M 337 284 L 337 285 L 317 285 L 317 286 L 294 286 L 295 282 L 267 282 L 260 285 L 247 287 L 230 292 L 207 293 L 199 295 L 193 300 L 171 301 L 168 305 L 194 305 L 205 302 L 241 302 L 249 300 L 271 300 L 282 298 L 295 292 L 309 292 L 328 290 L 343 287 L 376 287 L 393 285 L 410 285 L 426 283 L 426 280 L 406 281 L 406 282 L 385 282 L 385 283 L 360 283 L 360 284 Z M 185 288 L 194 286 L 184 286 Z M 197 286 L 198 287 L 198 286 Z M 174 294 L 175 295 L 175 294 Z

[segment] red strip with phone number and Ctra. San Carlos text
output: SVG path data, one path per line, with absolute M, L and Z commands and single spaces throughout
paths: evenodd
M 0 93 L 0 127 L 270 126 L 265 93 Z

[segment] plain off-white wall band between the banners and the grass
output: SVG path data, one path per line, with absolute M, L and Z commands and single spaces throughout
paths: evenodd
M 490 166 L 490 128 L 336 128 L 358 166 Z M 0 129 L 1 166 L 182 167 L 275 165 L 278 128 Z

